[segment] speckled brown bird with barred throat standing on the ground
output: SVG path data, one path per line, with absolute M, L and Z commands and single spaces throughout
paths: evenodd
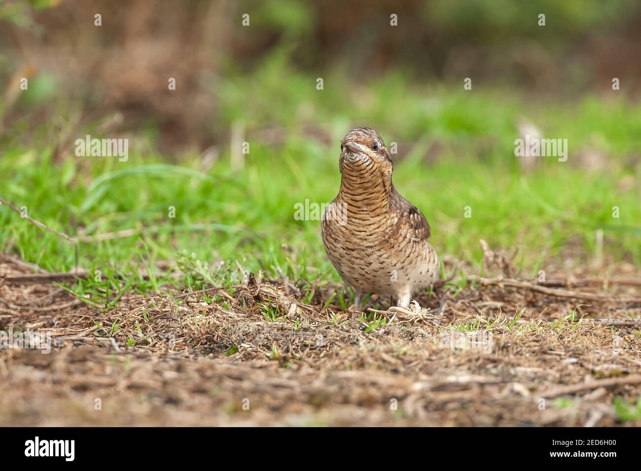
M 338 167 L 340 190 L 321 222 L 329 260 L 354 288 L 358 308 L 365 293 L 391 295 L 407 308 L 412 290 L 440 275 L 428 221 L 394 188 L 392 159 L 374 129 L 345 135 Z

